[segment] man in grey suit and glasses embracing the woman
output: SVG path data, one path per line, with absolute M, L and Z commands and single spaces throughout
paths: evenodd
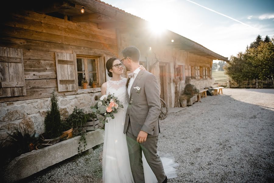
M 139 69 L 140 51 L 130 46 L 122 51 L 126 70 L 131 73 L 127 80 L 128 109 L 124 134 L 127 136 L 128 153 L 135 183 L 145 183 L 142 151 L 159 183 L 166 183 L 163 164 L 157 155 L 160 133 L 160 90 L 156 77 Z

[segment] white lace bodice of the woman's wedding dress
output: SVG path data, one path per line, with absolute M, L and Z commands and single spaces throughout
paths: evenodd
M 107 91 L 106 94 L 114 94 L 115 97 L 118 98 L 118 100 L 123 104 L 124 109 L 123 111 L 126 111 L 128 108 L 128 101 L 127 101 L 127 95 L 128 92 L 126 90 L 126 82 L 127 78 L 122 77 L 119 81 L 107 81 Z

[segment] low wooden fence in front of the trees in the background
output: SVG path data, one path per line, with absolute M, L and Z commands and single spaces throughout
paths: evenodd
M 241 81 L 237 82 L 234 80 L 216 80 L 213 87 L 228 87 L 228 88 L 274 88 L 274 80 L 251 80 L 251 81 Z

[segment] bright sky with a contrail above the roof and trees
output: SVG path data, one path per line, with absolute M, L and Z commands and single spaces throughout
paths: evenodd
M 273 0 L 103 0 L 224 57 L 244 52 L 258 34 L 274 37 Z

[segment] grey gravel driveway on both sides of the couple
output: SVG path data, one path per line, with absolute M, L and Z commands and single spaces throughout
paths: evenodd
M 274 182 L 274 89 L 223 89 L 160 121 L 158 150 L 178 177 L 168 182 Z M 101 153 L 74 156 L 26 182 L 102 182 Z

